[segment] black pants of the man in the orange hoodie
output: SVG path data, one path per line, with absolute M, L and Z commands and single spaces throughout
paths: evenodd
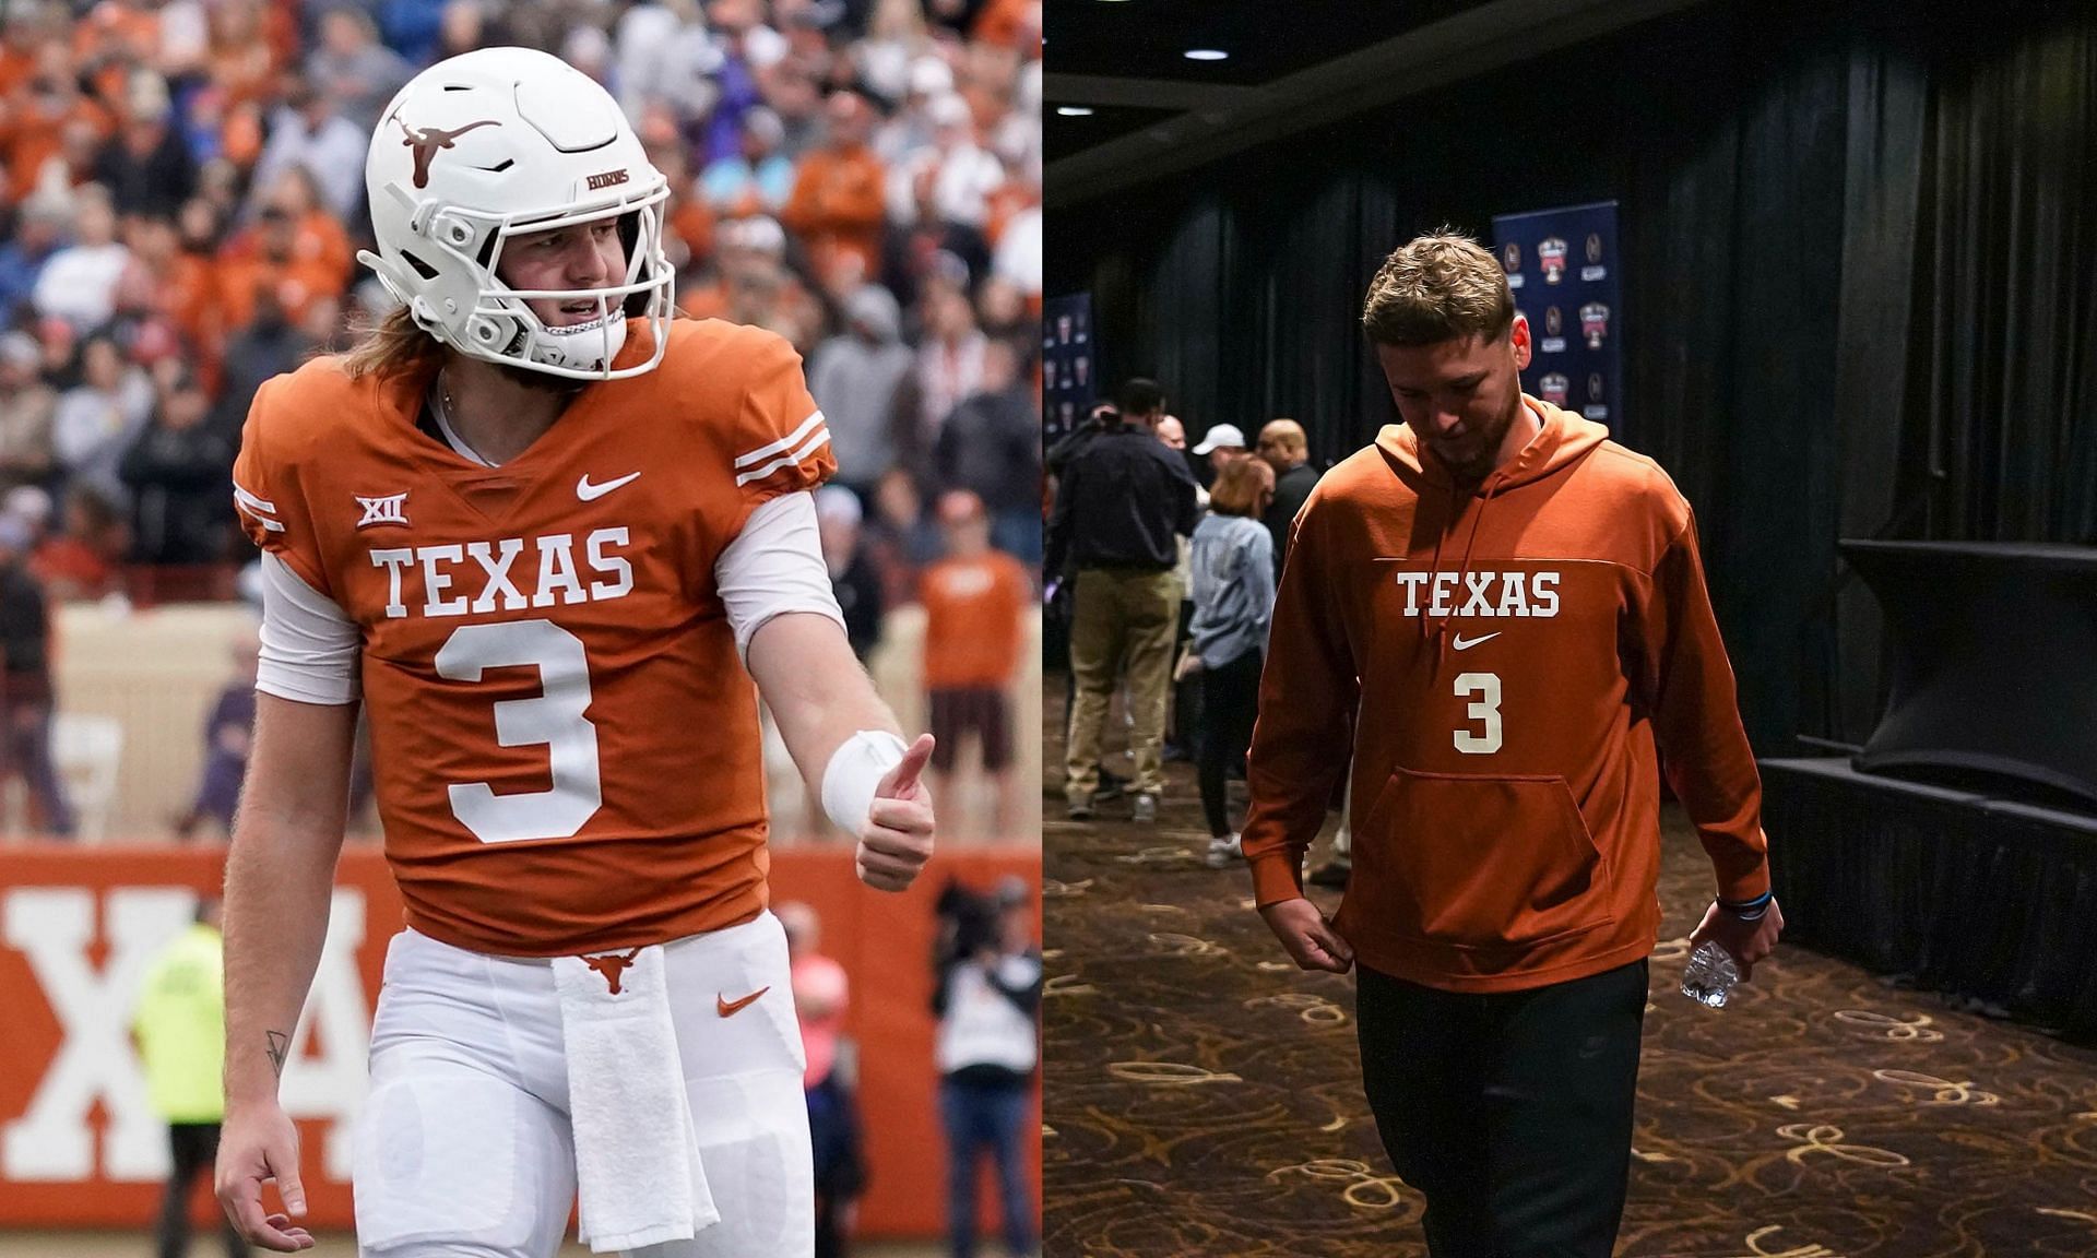
M 1491 996 L 1374 971 L 1361 1080 L 1434 1258 L 1608 1258 L 1623 1220 L 1646 962 Z

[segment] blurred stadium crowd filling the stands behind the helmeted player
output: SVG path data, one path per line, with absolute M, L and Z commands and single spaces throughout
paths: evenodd
M 373 128 L 493 44 L 621 101 L 679 312 L 803 354 L 877 627 L 939 503 L 1038 568 L 1040 0 L 46 0 L 0 29 L 0 602 L 235 598 L 256 388 L 390 304 L 354 262 Z M 48 715 L 15 677 L 46 621 L 0 608 Z

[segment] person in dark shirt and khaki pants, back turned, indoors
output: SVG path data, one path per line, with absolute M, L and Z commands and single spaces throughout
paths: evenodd
M 1069 461 L 1048 516 L 1046 572 L 1076 568 L 1069 667 L 1076 694 L 1065 749 L 1063 801 L 1072 820 L 1093 816 L 1099 742 L 1116 675 L 1128 673 L 1132 816 L 1158 820 L 1164 793 L 1166 692 L 1181 587 L 1172 574 L 1179 535 L 1193 533 L 1195 482 L 1179 453 L 1158 440 L 1164 390 L 1130 379 L 1120 390 L 1122 426 Z

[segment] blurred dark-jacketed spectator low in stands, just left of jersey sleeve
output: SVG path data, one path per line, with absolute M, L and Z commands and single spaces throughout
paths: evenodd
M 170 367 L 153 421 L 120 465 L 132 491 L 132 560 L 210 564 L 224 558 L 231 537 L 235 451 L 224 432 L 206 426 L 212 403 L 197 379 Z

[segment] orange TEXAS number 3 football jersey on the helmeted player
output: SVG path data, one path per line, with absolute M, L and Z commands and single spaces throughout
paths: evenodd
M 604 952 L 765 904 L 757 688 L 713 568 L 835 461 L 784 340 L 667 335 L 501 468 L 417 428 L 428 377 L 317 359 L 247 415 L 241 522 L 359 625 L 386 858 L 447 944 Z M 617 365 L 648 352 L 635 323 Z

